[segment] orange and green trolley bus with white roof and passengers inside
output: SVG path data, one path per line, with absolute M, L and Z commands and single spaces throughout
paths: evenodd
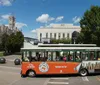
M 95 44 L 38 44 L 21 48 L 21 76 L 100 73 L 100 47 Z

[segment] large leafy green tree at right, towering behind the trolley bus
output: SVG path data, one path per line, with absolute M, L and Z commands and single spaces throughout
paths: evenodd
M 95 43 L 100 46 L 100 7 L 91 6 L 80 20 L 81 32 L 78 43 Z

